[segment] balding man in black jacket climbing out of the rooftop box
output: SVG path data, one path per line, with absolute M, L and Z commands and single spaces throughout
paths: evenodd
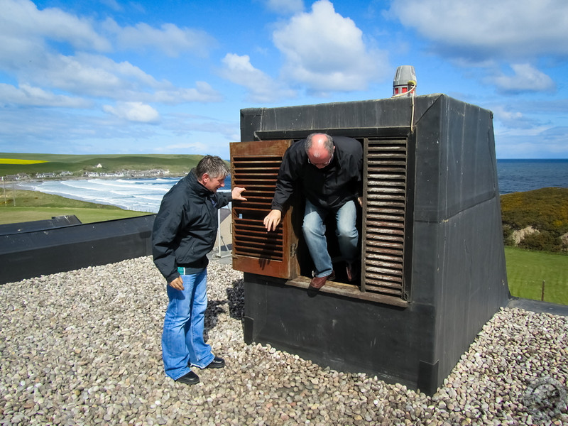
M 362 169 L 361 143 L 344 136 L 332 138 L 326 133 L 312 133 L 284 154 L 272 210 L 264 218 L 264 226 L 268 231 L 278 226 L 285 203 L 300 184 L 306 199 L 302 231 L 314 262 L 311 288 L 322 288 L 326 280 L 335 278 L 325 237 L 324 222 L 330 213 L 337 221 L 336 234 L 346 261 L 347 279 L 355 279 L 354 262 L 359 244 L 355 201 L 361 204 Z

